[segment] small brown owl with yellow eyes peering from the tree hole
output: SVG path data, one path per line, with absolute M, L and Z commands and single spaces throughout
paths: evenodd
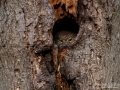
M 68 46 L 74 41 L 76 35 L 75 32 L 71 31 L 59 31 L 54 37 L 55 43 L 58 46 Z

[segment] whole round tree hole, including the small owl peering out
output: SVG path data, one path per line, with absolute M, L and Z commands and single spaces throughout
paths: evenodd
M 53 40 L 58 45 L 69 45 L 74 41 L 79 31 L 79 25 L 75 19 L 64 17 L 55 22 L 53 26 Z

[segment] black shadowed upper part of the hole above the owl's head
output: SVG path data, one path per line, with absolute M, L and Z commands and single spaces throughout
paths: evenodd
M 53 36 L 60 31 L 70 31 L 77 34 L 79 31 L 79 25 L 75 19 L 64 17 L 55 22 L 53 26 Z

